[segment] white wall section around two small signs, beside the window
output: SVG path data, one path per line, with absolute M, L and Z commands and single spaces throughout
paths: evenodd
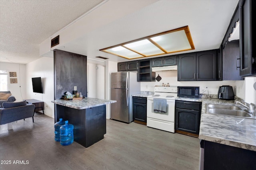
M 16 98 L 15 102 L 26 99 L 26 65 L 0 62 L 0 70 L 8 71 L 8 90 Z M 9 72 L 16 72 L 18 83 L 10 83 Z

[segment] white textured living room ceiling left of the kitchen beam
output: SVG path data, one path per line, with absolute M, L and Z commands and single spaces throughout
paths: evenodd
M 0 0 L 0 62 L 29 63 L 39 45 L 103 0 Z

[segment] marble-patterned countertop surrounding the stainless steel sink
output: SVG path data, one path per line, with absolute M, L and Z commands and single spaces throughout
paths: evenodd
M 256 119 L 206 113 L 206 104 L 235 105 L 234 101 L 201 100 L 199 139 L 256 151 Z

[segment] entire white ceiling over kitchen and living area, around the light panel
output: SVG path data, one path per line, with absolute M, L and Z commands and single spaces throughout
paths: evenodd
M 186 25 L 196 48 L 192 51 L 216 49 L 237 4 L 238 0 L 0 0 L 0 62 L 26 64 L 40 58 L 40 44 L 62 30 L 70 39 L 81 29 L 82 33 L 56 48 L 100 61 L 104 60 L 95 57 L 127 59 L 99 49 Z M 82 19 L 76 20 L 80 16 L 86 18 L 82 25 Z M 66 27 L 74 20 L 72 25 L 80 27 Z

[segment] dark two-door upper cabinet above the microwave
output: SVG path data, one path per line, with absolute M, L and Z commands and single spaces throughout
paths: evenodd
M 179 55 L 178 81 L 217 80 L 217 50 Z

